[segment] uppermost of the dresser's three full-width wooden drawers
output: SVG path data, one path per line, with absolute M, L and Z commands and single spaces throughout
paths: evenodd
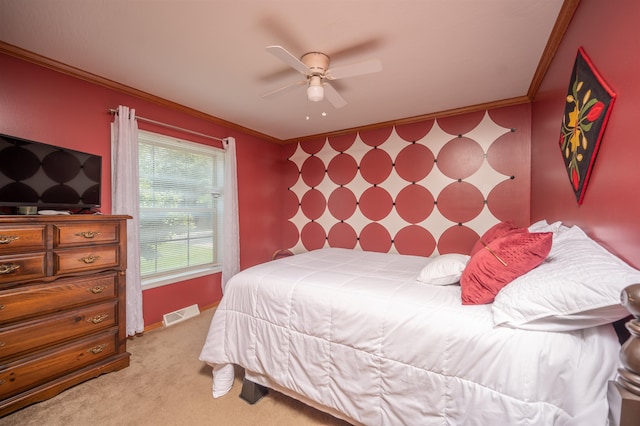
M 117 295 L 116 272 L 51 283 L 23 285 L 0 291 L 0 325 L 59 312 L 73 306 L 106 301 Z

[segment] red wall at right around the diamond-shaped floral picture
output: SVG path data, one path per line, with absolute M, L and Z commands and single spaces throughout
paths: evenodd
M 531 216 L 577 224 L 640 267 L 640 2 L 582 0 L 532 105 Z M 583 46 L 617 93 L 584 201 L 576 203 L 558 147 L 565 96 Z

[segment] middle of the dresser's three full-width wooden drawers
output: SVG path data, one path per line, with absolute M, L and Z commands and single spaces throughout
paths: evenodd
M 114 300 L 0 328 L 0 360 L 112 327 L 116 309 Z

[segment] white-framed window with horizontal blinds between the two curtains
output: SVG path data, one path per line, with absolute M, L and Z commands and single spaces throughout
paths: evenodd
M 145 131 L 138 148 L 142 287 L 221 270 L 224 151 Z

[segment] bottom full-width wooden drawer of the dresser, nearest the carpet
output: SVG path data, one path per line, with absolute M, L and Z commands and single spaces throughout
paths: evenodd
M 0 368 L 0 398 L 44 384 L 116 353 L 115 329 L 39 352 Z

